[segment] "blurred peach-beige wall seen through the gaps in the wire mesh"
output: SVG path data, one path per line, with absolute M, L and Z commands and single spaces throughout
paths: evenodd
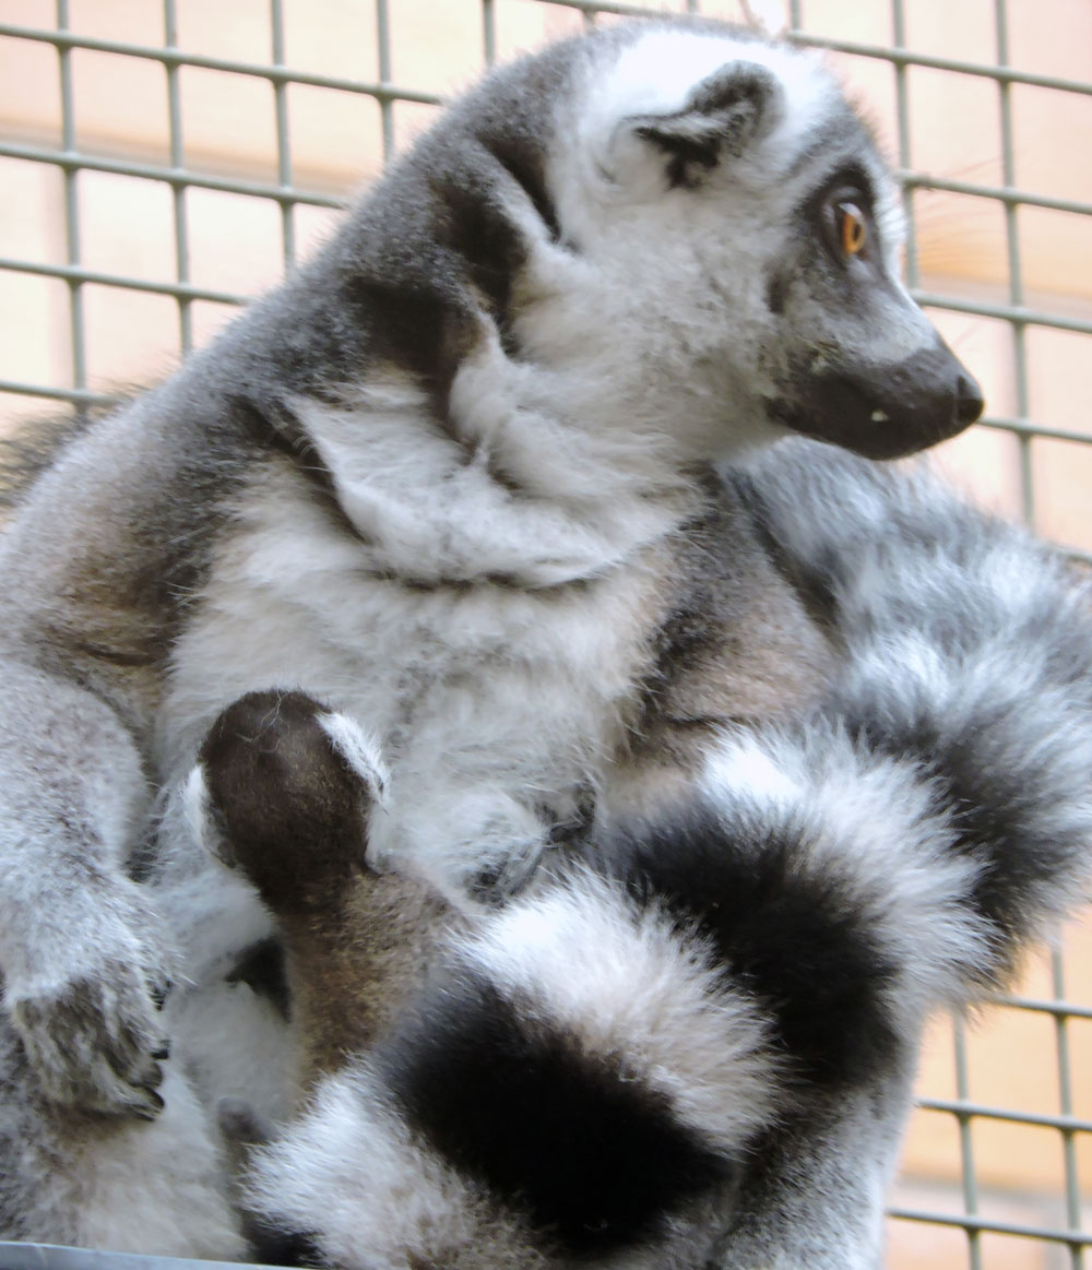
M 483 65 L 481 14 L 474 0 L 392 0 L 394 77 L 414 89 L 447 94 Z M 754 5 L 766 13 L 776 0 Z M 886 0 L 806 0 L 809 30 L 839 39 L 886 43 Z M 705 11 L 739 17 L 733 3 Z M 979 62 L 994 58 L 993 0 L 914 0 L 907 4 L 908 41 L 918 51 Z M 1011 0 L 1012 61 L 1048 75 L 1092 72 L 1092 6 L 1086 0 Z M 179 42 L 189 52 L 264 62 L 270 29 L 264 0 L 178 0 Z M 370 0 L 286 0 L 287 58 L 323 75 L 375 80 L 378 75 L 375 10 Z M 533 0 L 498 0 L 502 56 L 579 29 L 579 14 Z M 3 20 L 51 28 L 53 0 L 4 0 Z M 104 39 L 157 44 L 161 8 L 150 0 L 72 0 L 75 30 Z M 896 149 L 896 76 L 882 61 L 833 58 L 866 104 L 880 136 Z M 46 44 L 0 37 L 0 137 L 56 146 L 57 53 Z M 89 152 L 164 165 L 170 156 L 165 74 L 156 62 L 75 51 L 77 145 Z M 1003 138 L 998 90 L 984 79 L 912 67 L 912 159 L 918 169 L 965 182 L 999 184 Z M 277 178 L 274 98 L 268 83 L 221 71 L 179 71 L 185 163 L 193 170 L 260 182 Z M 298 185 L 342 193 L 381 165 L 380 109 L 367 98 L 324 88 L 287 90 L 293 175 Z M 399 145 L 427 126 L 433 108 L 394 108 Z M 1041 194 L 1092 202 L 1092 97 L 1050 89 L 1012 90 L 1017 180 Z M 0 255 L 63 263 L 65 212 L 60 173 L 44 164 L 0 159 Z M 163 183 L 84 171 L 79 177 L 83 263 L 105 273 L 173 281 L 174 210 Z M 270 284 L 282 268 L 277 207 L 258 198 L 192 188 L 185 194 L 190 279 L 217 291 L 249 295 Z M 333 213 L 298 207 L 293 222 L 306 251 L 329 229 Z M 945 193 L 914 197 L 923 284 L 935 292 L 990 302 L 1009 297 L 1006 217 L 990 199 Z M 1018 246 L 1030 305 L 1092 319 L 1092 218 L 1022 208 Z M 178 306 L 170 297 L 116 287 L 83 288 L 86 361 L 91 387 L 147 381 L 170 371 L 179 349 Z M 192 306 L 197 342 L 231 316 L 225 305 Z M 937 320 L 987 389 L 990 410 L 1016 413 L 1013 335 L 1002 321 L 940 311 Z M 1029 395 L 1032 418 L 1053 428 L 1092 429 L 1086 401 L 1092 366 L 1089 337 L 1030 329 Z M 0 269 L 0 378 L 66 385 L 72 358 L 69 287 Z M 0 396 L 0 424 L 48 409 L 29 398 Z M 1060 541 L 1092 549 L 1092 446 L 1056 441 L 1031 444 L 1040 527 Z M 984 502 L 1020 509 L 1018 444 L 1002 433 L 974 429 L 946 447 L 945 464 Z M 1068 988 L 1092 1003 L 1092 925 L 1068 941 Z M 1040 959 L 1022 989 L 1049 996 Z M 1092 1024 L 1070 1025 L 1074 1111 L 1092 1118 Z M 1055 1113 L 1059 1107 L 1056 1038 L 1051 1020 L 1027 1012 L 988 1013 L 970 1046 L 974 1099 L 1004 1107 Z M 955 1096 L 951 1029 L 935 1029 L 922 1071 L 922 1091 Z M 995 1213 L 1013 1219 L 1058 1219 L 1051 1194 L 1060 1191 L 1060 1138 L 1049 1129 L 976 1123 L 973 1144 L 979 1177 Z M 1078 1135 L 1077 1157 L 1092 1187 L 1092 1147 Z M 960 1143 L 951 1116 L 922 1113 L 905 1152 L 908 1203 L 959 1209 L 950 1184 L 959 1177 Z M 1053 1205 L 1053 1206 L 1051 1206 Z M 1067 1264 L 1044 1245 L 992 1237 L 985 1265 L 1048 1267 Z M 896 1223 L 891 1265 L 961 1266 L 966 1241 L 959 1232 Z M 1054 1257 L 1054 1260 L 1051 1260 Z

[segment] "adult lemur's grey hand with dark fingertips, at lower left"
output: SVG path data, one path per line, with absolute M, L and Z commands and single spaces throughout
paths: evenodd
M 156 1091 L 169 1045 L 159 1010 L 170 982 L 151 939 L 132 930 L 70 931 L 67 964 L 9 982 L 6 999 L 46 1099 L 152 1120 L 163 1110 Z

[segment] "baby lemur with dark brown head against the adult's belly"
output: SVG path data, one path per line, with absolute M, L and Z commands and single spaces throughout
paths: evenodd
M 371 738 L 302 692 L 251 692 L 206 738 L 189 796 L 283 933 L 303 1083 L 371 1046 L 422 982 L 448 904 L 367 859 L 385 772 Z

